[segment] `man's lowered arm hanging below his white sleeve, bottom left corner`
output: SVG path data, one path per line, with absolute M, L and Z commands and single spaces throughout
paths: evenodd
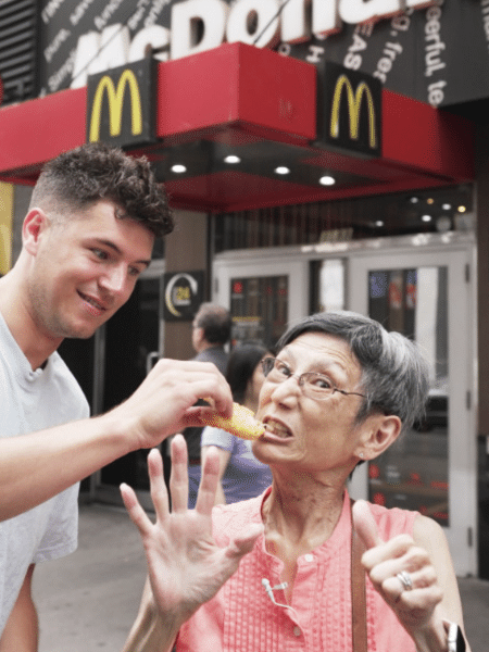
M 39 629 L 37 611 L 30 588 L 34 573 L 32 564 L 26 573 L 17 600 L 0 638 L 0 652 L 37 652 Z

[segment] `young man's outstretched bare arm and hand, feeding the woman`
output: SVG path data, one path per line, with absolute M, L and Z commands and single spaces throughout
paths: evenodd
M 213 412 L 193 406 L 201 397 L 211 397 L 215 409 L 230 416 L 231 393 L 213 364 L 161 360 L 129 399 L 102 416 L 0 439 L 0 521 L 122 455 L 155 447 L 187 426 L 201 426 L 199 415 Z

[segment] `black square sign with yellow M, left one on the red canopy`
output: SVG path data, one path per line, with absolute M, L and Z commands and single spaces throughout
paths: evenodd
M 154 142 L 155 61 L 88 77 L 87 142 L 103 140 L 117 147 Z

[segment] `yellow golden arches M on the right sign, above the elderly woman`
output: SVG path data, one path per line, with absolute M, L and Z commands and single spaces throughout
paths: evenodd
M 375 149 L 377 147 L 377 134 L 375 129 L 375 106 L 372 91 L 366 82 L 361 82 L 358 85 L 356 90 L 353 92 L 351 82 L 344 74 L 338 77 L 335 87 L 335 93 L 333 96 L 331 122 L 329 128 L 331 138 L 338 138 L 339 136 L 339 112 L 343 87 L 347 88 L 348 113 L 350 117 L 350 138 L 352 140 L 359 139 L 360 111 L 362 109 L 362 100 L 365 97 L 368 111 L 368 145 L 372 149 Z

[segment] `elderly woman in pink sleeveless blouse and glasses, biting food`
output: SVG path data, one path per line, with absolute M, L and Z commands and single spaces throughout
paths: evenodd
M 122 488 L 152 588 L 126 650 L 468 650 L 442 529 L 415 512 L 352 509 L 346 488 L 423 412 L 428 375 L 415 346 L 354 313 L 317 314 L 285 334 L 264 372 L 256 416 L 266 430 L 253 452 L 273 484 L 262 496 L 212 510 L 211 454 L 187 511 L 178 437 L 172 513 L 155 451 L 155 524 Z

